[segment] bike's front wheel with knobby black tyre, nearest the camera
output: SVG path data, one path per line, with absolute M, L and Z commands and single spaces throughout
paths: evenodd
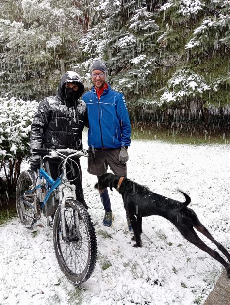
M 77 200 L 66 200 L 64 215 L 60 214 L 59 207 L 53 220 L 55 254 L 66 277 L 75 284 L 82 284 L 93 273 L 97 260 L 95 229 L 88 211 Z

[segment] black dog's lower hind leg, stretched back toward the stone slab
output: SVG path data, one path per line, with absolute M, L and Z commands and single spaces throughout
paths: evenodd
M 209 248 L 197 235 L 197 233 L 194 231 L 194 228 L 192 225 L 187 226 L 180 223 L 173 223 L 173 225 L 176 226 L 176 228 L 181 232 L 183 237 L 190 241 L 192 244 L 197 246 L 199 249 L 207 252 L 211 257 L 216 259 L 219 263 L 221 263 L 226 269 L 227 269 L 227 275 L 230 277 L 230 264 L 228 264 L 220 255 L 218 252 L 214 251 L 213 249 Z

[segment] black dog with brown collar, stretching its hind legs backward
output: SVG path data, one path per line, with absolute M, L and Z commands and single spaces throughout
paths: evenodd
M 122 195 L 124 207 L 130 216 L 131 226 L 134 232 L 134 240 L 136 241 L 134 247 L 142 246 L 142 217 L 159 215 L 168 219 L 175 225 L 186 240 L 218 260 L 218 262 L 227 269 L 227 275 L 230 277 L 230 263 L 227 263 L 218 252 L 209 248 L 199 238 L 194 228 L 210 239 L 227 257 L 228 261 L 230 261 L 229 252 L 224 246 L 214 240 L 209 231 L 200 223 L 195 212 L 187 207 L 191 202 L 191 199 L 187 194 L 181 192 L 184 194 L 186 201 L 180 202 L 153 193 L 148 190 L 148 188 L 137 184 L 136 182 L 111 173 L 102 175 L 99 182 L 95 184 L 95 188 L 100 192 L 103 192 L 106 187 L 110 187 L 111 190 L 112 188 L 115 188 Z

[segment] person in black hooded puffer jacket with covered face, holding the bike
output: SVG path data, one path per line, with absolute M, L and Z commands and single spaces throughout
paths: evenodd
M 82 131 L 86 124 L 86 104 L 79 98 L 84 92 L 84 85 L 80 76 L 73 71 L 66 72 L 59 83 L 56 96 L 49 96 L 40 102 L 31 125 L 31 169 L 37 171 L 40 168 L 41 156 L 33 154 L 34 148 L 56 149 L 82 149 Z M 79 158 L 71 164 L 72 170 L 67 177 L 76 186 L 77 200 L 87 208 L 82 189 L 82 172 Z M 46 169 L 51 177 L 56 180 L 59 158 L 45 158 Z M 68 171 L 68 168 L 67 168 Z M 74 177 L 75 176 L 75 177 Z

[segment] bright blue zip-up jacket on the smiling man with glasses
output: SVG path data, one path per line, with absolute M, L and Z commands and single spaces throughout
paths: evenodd
M 130 146 L 131 125 L 125 97 L 122 93 L 112 90 L 109 85 L 98 99 L 93 86 L 91 91 L 83 95 L 82 100 L 87 107 L 89 147 Z

